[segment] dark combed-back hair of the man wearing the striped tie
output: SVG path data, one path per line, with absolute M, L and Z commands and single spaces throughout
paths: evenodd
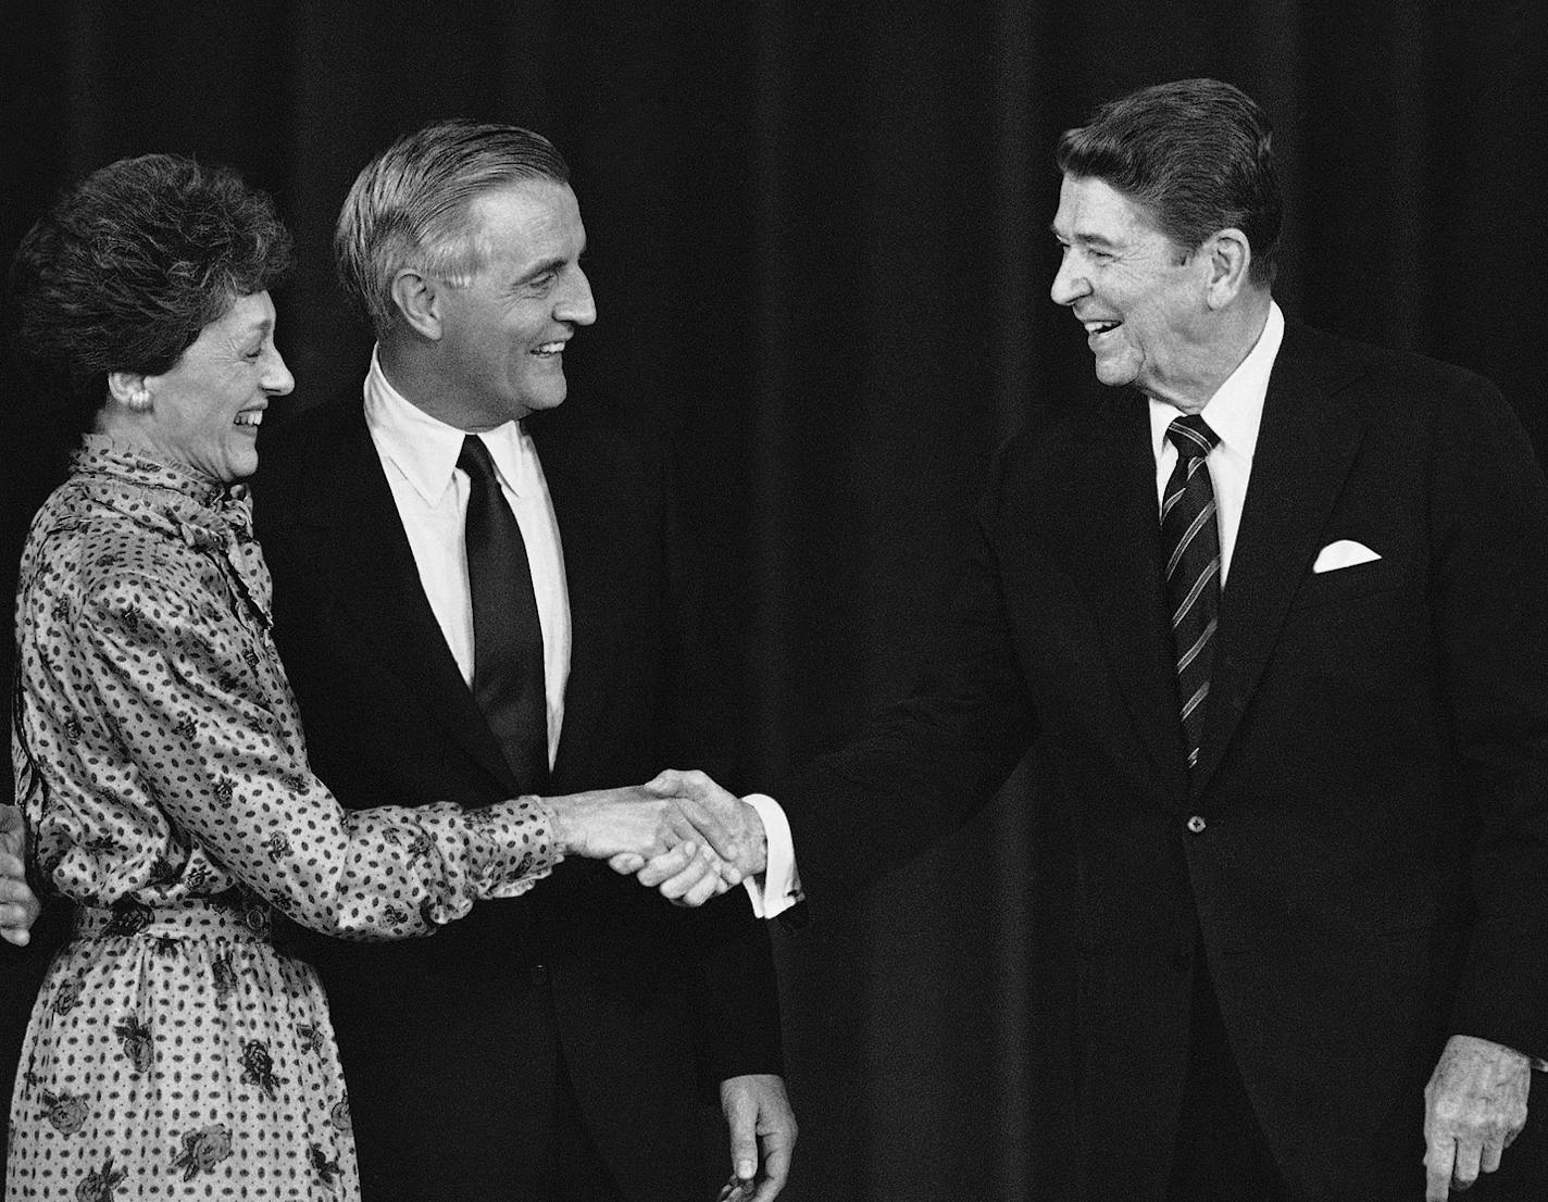
M 1180 79 L 1132 91 L 1065 130 L 1056 159 L 1065 175 L 1122 192 L 1189 254 L 1221 229 L 1240 229 L 1252 248 L 1251 280 L 1274 282 L 1283 201 L 1272 128 L 1238 88 Z

